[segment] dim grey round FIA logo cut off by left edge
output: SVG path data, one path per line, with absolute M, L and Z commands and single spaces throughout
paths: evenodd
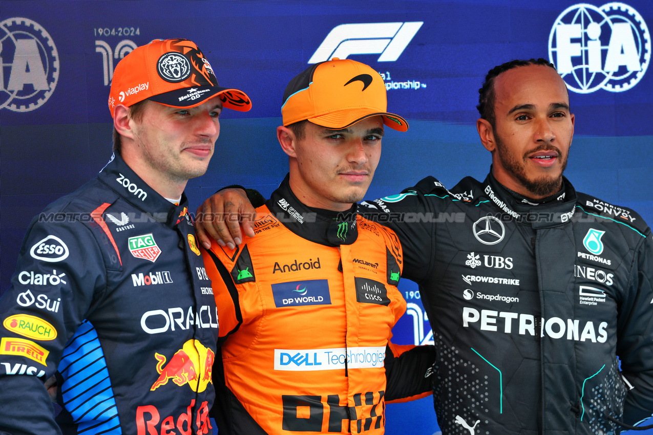
M 31 112 L 54 93 L 59 54 L 39 23 L 27 18 L 0 22 L 0 64 L 0 109 Z

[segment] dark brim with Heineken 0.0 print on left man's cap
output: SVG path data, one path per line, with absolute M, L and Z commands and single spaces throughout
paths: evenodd
M 231 87 L 185 87 L 176 91 L 153 95 L 149 99 L 165 106 L 192 108 L 203 104 L 217 95 L 220 96 L 224 108 L 238 110 L 238 112 L 247 112 L 251 109 L 251 100 L 247 97 L 247 94 Z

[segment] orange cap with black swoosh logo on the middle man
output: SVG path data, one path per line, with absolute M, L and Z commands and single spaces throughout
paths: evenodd
M 351 59 L 311 65 L 291 80 L 283 93 L 281 115 L 287 126 L 308 119 L 322 127 L 349 127 L 370 116 L 383 116 L 394 130 L 408 130 L 406 119 L 386 112 L 383 79 L 371 67 Z

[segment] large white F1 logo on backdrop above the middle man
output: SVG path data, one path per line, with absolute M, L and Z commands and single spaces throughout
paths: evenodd
M 334 27 L 308 63 L 347 59 L 351 54 L 381 53 L 379 62 L 394 62 L 424 22 L 341 24 Z

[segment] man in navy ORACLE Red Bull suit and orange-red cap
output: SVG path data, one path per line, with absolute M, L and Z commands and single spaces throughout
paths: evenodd
M 170 39 L 118 63 L 108 104 L 114 156 L 33 220 L 0 299 L 1 434 L 212 433 L 217 310 L 183 190 L 251 103 Z

